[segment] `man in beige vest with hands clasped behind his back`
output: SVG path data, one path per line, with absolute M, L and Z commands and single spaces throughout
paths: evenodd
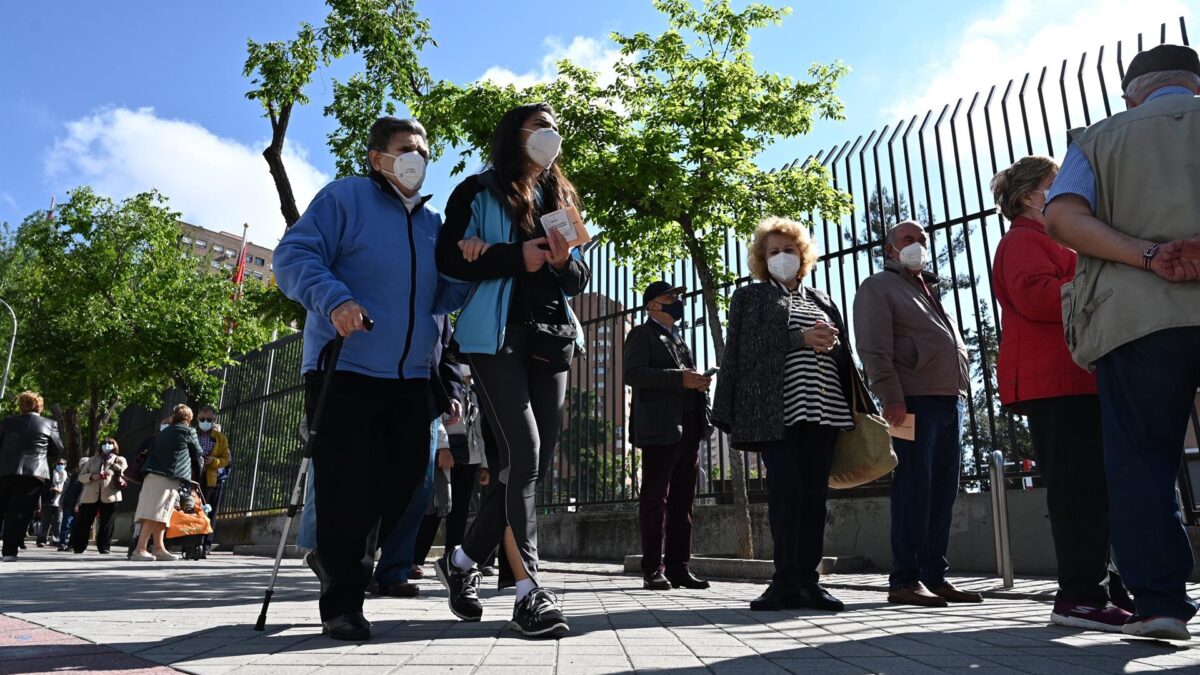
M 1134 56 L 1127 109 L 1070 132 L 1046 231 L 1079 251 L 1062 289 L 1067 346 L 1094 370 L 1112 548 L 1130 635 L 1186 640 L 1196 613 L 1175 480 L 1200 387 L 1200 58 Z

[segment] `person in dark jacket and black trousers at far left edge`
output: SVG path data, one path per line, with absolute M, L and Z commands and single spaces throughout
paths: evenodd
M 37 509 L 37 495 L 50 478 L 49 458 L 62 454 L 59 426 L 42 417 L 35 392 L 17 396 L 19 414 L 0 420 L 0 508 L 4 508 L 4 562 L 16 562 L 25 530 Z

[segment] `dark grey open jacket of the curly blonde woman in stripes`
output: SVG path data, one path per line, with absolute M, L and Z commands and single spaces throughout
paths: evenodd
M 851 405 L 852 369 L 850 331 L 841 312 L 829 295 L 803 287 L 806 297 L 829 315 L 839 331 L 833 351 L 838 363 L 841 390 Z M 742 450 L 762 450 L 784 438 L 784 364 L 792 350 L 808 348 L 799 330 L 787 329 L 787 295 L 770 282 L 738 288 L 730 303 L 730 325 L 725 335 L 721 374 L 716 378 L 713 424 L 730 435 L 730 442 Z M 866 398 L 860 412 L 876 412 Z

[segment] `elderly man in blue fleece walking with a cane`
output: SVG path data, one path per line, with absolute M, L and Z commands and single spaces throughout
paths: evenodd
M 416 120 L 372 125 L 366 177 L 326 185 L 275 249 L 280 288 L 308 311 L 305 408 L 311 423 L 337 335 L 337 362 L 313 450 L 320 620 L 338 640 L 371 638 L 362 615 L 367 546 L 390 531 L 426 473 L 437 410 L 430 359 L 434 315 L 457 309 L 464 287 L 445 288 L 433 262 L 442 215 L 420 195 L 428 138 Z M 365 330 L 370 317 L 374 329 Z M 364 482 L 364 476 L 367 480 Z

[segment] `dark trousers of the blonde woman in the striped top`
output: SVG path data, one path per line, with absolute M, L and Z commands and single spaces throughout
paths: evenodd
M 762 453 L 767 465 L 767 515 L 775 548 L 772 587 L 796 591 L 821 579 L 824 552 L 826 496 L 839 431 L 800 422 L 784 440 Z

